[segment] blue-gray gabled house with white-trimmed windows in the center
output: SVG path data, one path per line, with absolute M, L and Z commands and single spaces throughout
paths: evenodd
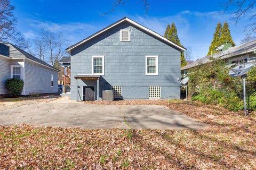
M 67 48 L 71 99 L 180 98 L 180 53 L 186 49 L 129 18 L 123 18 Z

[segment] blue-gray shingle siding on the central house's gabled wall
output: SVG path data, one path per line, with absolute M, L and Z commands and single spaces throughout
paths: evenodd
M 130 42 L 120 42 L 120 29 L 130 29 Z M 105 75 L 100 78 L 101 90 L 122 86 L 126 99 L 148 98 L 149 86 L 161 86 L 162 98 L 180 98 L 180 51 L 161 40 L 123 22 L 102 35 L 71 50 L 71 99 L 76 98 L 77 74 L 92 74 L 92 56 L 105 56 Z M 158 75 L 145 75 L 146 55 L 158 56 Z M 82 87 L 87 81 L 77 81 Z M 89 83 L 92 84 L 92 83 Z M 93 82 L 97 86 L 97 82 Z M 78 100 L 81 100 L 78 95 Z

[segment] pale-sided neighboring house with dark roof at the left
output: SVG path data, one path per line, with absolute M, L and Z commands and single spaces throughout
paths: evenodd
M 10 43 L 0 43 L 0 95 L 8 94 L 5 81 L 10 78 L 24 81 L 22 95 L 58 92 L 58 71 Z

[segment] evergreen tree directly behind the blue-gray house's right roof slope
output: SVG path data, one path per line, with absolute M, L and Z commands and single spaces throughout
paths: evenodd
M 177 28 L 174 23 L 172 23 L 171 25 L 170 24 L 167 25 L 165 33 L 164 33 L 164 37 L 167 38 L 168 40 L 172 41 L 173 43 L 183 47 L 180 43 Z M 185 55 L 183 52 L 181 52 L 180 60 L 181 60 L 181 67 L 187 65 L 187 61 L 185 60 Z

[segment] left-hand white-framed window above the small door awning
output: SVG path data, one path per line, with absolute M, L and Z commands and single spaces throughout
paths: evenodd
M 104 75 L 104 56 L 92 56 L 92 74 Z

